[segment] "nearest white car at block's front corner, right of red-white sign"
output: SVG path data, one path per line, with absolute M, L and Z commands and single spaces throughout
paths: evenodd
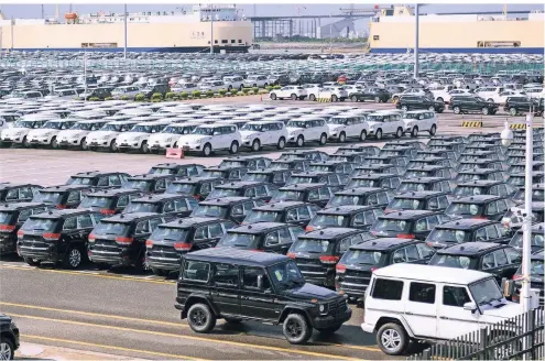
M 192 134 L 178 138 L 178 147 L 184 152 L 197 152 L 204 156 L 222 150 L 236 154 L 241 143 L 240 131 L 237 125 L 221 123 L 200 125 Z

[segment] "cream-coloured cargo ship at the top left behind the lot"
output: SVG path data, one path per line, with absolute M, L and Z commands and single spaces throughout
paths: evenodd
M 237 7 L 194 6 L 176 12 L 127 13 L 129 52 L 248 52 L 253 28 Z M 0 13 L 3 51 L 122 52 L 126 14 L 66 13 L 58 19 L 6 19 Z

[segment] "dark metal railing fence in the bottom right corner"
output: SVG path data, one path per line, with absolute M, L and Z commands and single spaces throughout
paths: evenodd
M 544 360 L 543 309 L 505 319 L 443 343 L 407 360 Z

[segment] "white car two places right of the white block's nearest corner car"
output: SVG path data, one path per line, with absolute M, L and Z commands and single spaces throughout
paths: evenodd
M 329 138 L 329 128 L 323 118 L 298 118 L 290 120 L 286 124 L 287 143 L 301 147 L 308 142 L 318 142 L 325 145 Z

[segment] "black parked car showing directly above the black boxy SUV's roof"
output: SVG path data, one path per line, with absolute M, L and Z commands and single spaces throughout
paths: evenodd
M 216 247 L 286 254 L 293 242 L 305 231 L 297 226 L 279 222 L 258 222 L 231 228 Z

